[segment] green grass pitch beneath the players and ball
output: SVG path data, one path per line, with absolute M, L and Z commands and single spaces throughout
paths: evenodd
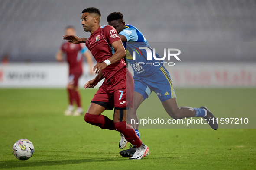
M 81 90 L 85 111 L 95 92 Z M 215 116 L 250 115 L 256 123 L 256 89 L 175 92 L 179 106 L 205 105 Z M 147 100 L 138 111 L 142 115 L 143 108 L 150 108 Z M 0 89 L 0 169 L 256 169 L 256 129 L 140 129 L 150 155 L 127 160 L 119 155 L 118 132 L 92 126 L 83 116 L 64 116 L 67 101 L 65 89 Z M 113 118 L 113 111 L 104 115 Z M 18 139 L 35 146 L 29 160 L 13 156 Z

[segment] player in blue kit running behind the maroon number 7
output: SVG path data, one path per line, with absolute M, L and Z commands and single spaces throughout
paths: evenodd
M 152 57 L 152 60 L 146 60 L 146 50 L 138 49 L 139 47 L 150 48 L 146 38 L 143 34 L 134 26 L 126 25 L 123 21 L 123 14 L 120 12 L 113 12 L 107 16 L 108 25 L 113 26 L 119 37 L 123 41 L 123 45 L 126 48 L 126 60 L 130 63 L 134 72 L 134 94 L 133 94 L 133 108 L 129 108 L 127 114 L 127 123 L 132 125 L 136 131 L 136 134 L 140 137 L 138 124 L 131 123 L 130 120 L 138 120 L 136 110 L 139 105 L 149 97 L 152 91 L 158 94 L 160 101 L 166 112 L 173 119 L 183 119 L 185 117 L 203 117 L 204 119 L 214 118 L 214 123 L 209 121 L 209 125 L 213 129 L 218 129 L 218 124 L 215 116 L 204 106 L 200 108 L 192 108 L 187 106 L 178 107 L 176 102 L 176 95 L 173 89 L 172 80 L 169 76 L 169 72 L 165 67 L 160 64 L 159 66 L 152 66 L 151 63 L 158 62 Z M 135 43 L 125 43 L 135 42 Z M 151 48 L 150 48 L 151 49 Z M 133 51 L 136 50 L 136 59 L 133 60 Z M 139 53 L 137 53 L 139 51 Z M 153 51 L 152 53 L 153 54 Z M 156 54 L 156 58 L 161 58 Z M 147 63 L 147 64 L 138 64 Z M 126 140 L 121 134 L 121 140 L 119 147 L 124 148 Z M 120 155 L 123 157 L 131 157 L 136 151 L 136 148 L 130 148 L 120 151 Z

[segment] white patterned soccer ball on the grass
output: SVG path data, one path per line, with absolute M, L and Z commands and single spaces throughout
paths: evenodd
M 34 145 L 28 139 L 20 139 L 13 145 L 13 154 L 19 160 L 27 160 L 34 154 Z

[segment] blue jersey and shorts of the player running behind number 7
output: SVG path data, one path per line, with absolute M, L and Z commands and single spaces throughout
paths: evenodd
M 159 60 L 153 57 L 153 50 L 143 34 L 132 25 L 126 25 L 125 29 L 119 34 L 127 39 L 123 46 L 126 49 L 126 60 L 130 63 L 134 72 L 134 91 L 141 94 L 144 100 L 149 97 L 152 91 L 156 92 L 161 102 L 176 98 L 169 72 Z M 147 60 L 146 49 L 140 47 L 151 50 L 152 60 Z M 112 47 L 113 54 L 114 51 Z M 161 58 L 158 54 L 155 54 L 155 57 Z M 159 65 L 154 65 L 154 63 L 159 63 Z

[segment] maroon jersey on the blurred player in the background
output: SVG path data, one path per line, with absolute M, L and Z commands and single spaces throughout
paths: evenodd
M 73 44 L 65 42 L 61 46 L 61 50 L 66 54 L 69 64 L 69 74 L 83 72 L 83 43 Z

